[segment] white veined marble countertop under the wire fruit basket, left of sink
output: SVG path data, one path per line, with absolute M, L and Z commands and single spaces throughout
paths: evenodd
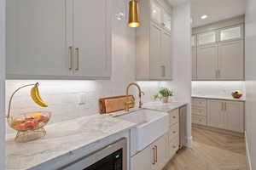
M 44 138 L 28 143 L 15 143 L 12 136 L 6 141 L 6 166 L 9 170 L 35 168 L 135 126 L 111 116 L 94 115 L 46 126 Z

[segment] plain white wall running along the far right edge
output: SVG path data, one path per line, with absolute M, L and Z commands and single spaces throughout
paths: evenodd
M 252 162 L 252 170 L 256 169 L 256 1 L 247 0 L 246 12 L 246 133 L 247 156 Z

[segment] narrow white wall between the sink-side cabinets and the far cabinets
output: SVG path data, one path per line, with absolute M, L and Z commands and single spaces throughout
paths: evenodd
M 172 55 L 173 85 L 179 99 L 189 103 L 187 113 L 187 139 L 191 145 L 191 23 L 190 4 L 173 8 Z

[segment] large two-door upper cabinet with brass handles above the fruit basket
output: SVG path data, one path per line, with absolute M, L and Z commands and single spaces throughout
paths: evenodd
M 109 0 L 8 0 L 7 78 L 111 76 Z

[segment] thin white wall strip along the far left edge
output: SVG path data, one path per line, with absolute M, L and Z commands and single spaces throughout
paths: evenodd
M 5 0 L 0 0 L 0 169 L 4 169 Z

